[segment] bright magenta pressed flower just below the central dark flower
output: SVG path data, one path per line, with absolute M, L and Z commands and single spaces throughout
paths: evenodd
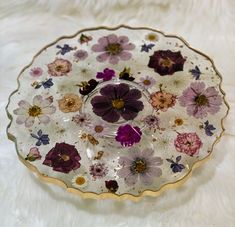
M 142 132 L 139 127 L 126 124 L 118 128 L 115 139 L 120 142 L 122 146 L 132 146 L 134 143 L 140 142 L 141 135 Z

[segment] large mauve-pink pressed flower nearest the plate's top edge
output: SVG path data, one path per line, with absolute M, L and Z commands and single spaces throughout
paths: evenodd
M 127 36 L 117 36 L 110 34 L 98 39 L 98 44 L 92 46 L 94 52 L 100 52 L 96 59 L 99 62 L 104 62 L 109 59 L 110 64 L 117 64 L 119 59 L 127 61 L 131 58 L 130 50 L 133 50 L 135 45 L 129 43 Z

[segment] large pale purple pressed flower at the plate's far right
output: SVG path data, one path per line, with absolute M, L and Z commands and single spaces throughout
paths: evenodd
M 179 97 L 181 106 L 187 107 L 187 113 L 196 118 L 204 118 L 208 113 L 216 114 L 220 110 L 222 98 L 214 87 L 204 82 L 194 82 Z

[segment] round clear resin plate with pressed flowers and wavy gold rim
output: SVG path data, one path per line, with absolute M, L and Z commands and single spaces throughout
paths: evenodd
M 148 28 L 99 27 L 19 76 L 8 136 L 42 179 L 90 198 L 157 195 L 212 152 L 228 106 L 212 60 Z

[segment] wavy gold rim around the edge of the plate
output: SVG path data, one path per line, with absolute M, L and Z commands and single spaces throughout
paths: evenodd
M 186 175 L 184 175 L 181 179 L 178 179 L 177 181 L 174 181 L 174 182 L 170 182 L 170 183 L 166 183 L 164 185 L 162 185 L 157 191 L 153 191 L 153 190 L 145 190 L 143 192 L 141 192 L 139 195 L 133 195 L 133 194 L 130 194 L 130 193 L 123 193 L 121 195 L 118 195 L 118 194 L 114 194 L 114 193 L 110 193 L 110 192 L 103 192 L 101 194 L 97 194 L 97 193 L 94 193 L 94 192 L 83 192 L 83 191 L 80 191 L 79 189 L 75 189 L 75 188 L 71 188 L 69 187 L 65 182 L 63 182 L 62 180 L 59 180 L 57 178 L 53 178 L 53 177 L 49 177 L 45 174 L 42 174 L 36 166 L 32 165 L 31 163 L 27 162 L 19 153 L 18 151 L 18 147 L 17 147 L 17 139 L 14 137 L 14 135 L 12 135 L 11 133 L 9 133 L 9 128 L 11 126 L 11 123 L 12 123 L 12 120 L 13 120 L 13 117 L 12 115 L 9 113 L 8 111 L 8 106 L 10 104 L 10 100 L 11 100 L 11 97 L 19 90 L 20 88 L 20 82 L 19 82 L 19 78 L 20 76 L 22 75 L 22 73 L 27 69 L 29 68 L 34 60 L 36 59 L 36 57 L 38 55 L 40 55 L 44 50 L 46 50 L 48 47 L 56 44 L 58 41 L 62 40 L 62 39 L 71 39 L 71 38 L 74 38 L 76 37 L 77 35 L 79 35 L 80 33 L 82 32 L 88 32 L 88 31 L 94 31 L 94 30 L 101 30 L 101 29 L 106 29 L 106 30 L 110 30 L 110 31 L 114 31 L 114 30 L 118 30 L 120 28 L 126 28 L 126 29 L 130 29 L 130 30 L 149 30 L 149 31 L 153 31 L 153 32 L 157 32 L 157 33 L 160 33 L 162 34 L 164 37 L 167 37 L 167 38 L 176 38 L 176 39 L 179 39 L 180 41 L 182 41 L 189 49 L 191 49 L 192 51 L 204 56 L 206 59 L 208 59 L 211 64 L 212 64 L 212 67 L 213 69 L 215 70 L 216 74 L 219 76 L 220 78 L 220 83 L 219 83 L 219 89 L 220 89 L 220 92 L 223 94 L 223 101 L 224 101 L 224 104 L 226 105 L 227 107 L 227 111 L 226 111 L 226 114 L 225 116 L 221 119 L 221 128 L 222 128 L 222 131 L 220 133 L 220 135 L 216 138 L 216 140 L 214 141 L 214 143 L 212 144 L 212 147 L 211 147 L 211 150 L 210 152 L 208 153 L 208 155 L 206 157 L 204 157 L 203 159 L 201 160 L 198 160 L 196 161 L 195 163 L 193 163 L 193 165 L 191 166 L 191 168 L 188 170 L 188 173 Z M 7 112 L 7 116 L 10 120 L 10 123 L 8 124 L 7 126 L 7 129 L 6 129 L 6 133 L 7 133 L 7 136 L 8 136 L 8 139 L 13 141 L 15 143 L 15 147 L 16 147 L 16 152 L 17 152 L 17 155 L 19 157 L 19 160 L 29 169 L 31 170 L 32 172 L 34 172 L 38 178 L 44 182 L 47 182 L 47 183 L 52 183 L 52 184 L 55 184 L 55 185 L 59 185 L 63 188 L 65 188 L 68 192 L 71 192 L 73 194 L 78 194 L 80 195 L 82 198 L 84 199 L 117 199 L 117 200 L 125 200 L 125 199 L 129 199 L 129 200 L 132 200 L 132 201 L 139 201 L 143 196 L 158 196 L 160 195 L 162 192 L 164 192 L 166 189 L 169 189 L 169 188 L 176 188 L 178 186 L 180 186 L 181 184 L 183 184 L 185 181 L 187 181 L 187 179 L 192 175 L 192 172 L 195 168 L 199 167 L 201 164 L 203 164 L 205 161 L 207 161 L 212 152 L 213 152 L 213 149 L 214 149 L 214 146 L 217 142 L 219 142 L 219 140 L 221 139 L 224 131 L 225 131 L 225 128 L 224 128 L 224 125 L 223 125 L 223 121 L 224 119 L 227 117 L 228 113 L 229 113 L 229 110 L 230 110 L 230 107 L 229 107 L 229 104 L 227 103 L 227 101 L 225 100 L 225 92 L 223 91 L 223 89 L 221 88 L 221 84 L 223 82 L 223 78 L 221 76 L 221 74 L 218 72 L 218 70 L 216 69 L 215 67 L 215 64 L 214 64 L 214 61 L 206 54 L 202 53 L 201 51 L 199 50 L 196 50 L 194 49 L 193 47 L 191 47 L 187 41 L 185 41 L 182 37 L 180 36 L 177 36 L 177 35 L 166 35 L 164 32 L 160 31 L 160 30 L 157 30 L 157 29 L 153 29 L 153 28 L 148 28 L 148 27 L 131 27 L 131 26 L 127 26 L 127 25 L 119 25 L 117 27 L 106 27 L 106 26 L 99 26 L 99 27 L 93 27 L 93 28 L 86 28 L 86 29 L 82 29 L 82 30 L 79 30 L 78 32 L 76 32 L 75 34 L 71 35 L 71 36 L 62 36 L 58 39 L 56 39 L 54 42 L 46 45 L 45 47 L 43 47 L 36 55 L 34 55 L 32 61 L 27 65 L 25 66 L 20 74 L 18 75 L 17 77 L 17 84 L 18 84 L 18 87 L 15 91 L 13 91 L 10 96 L 8 97 L 8 103 L 7 103 L 7 106 L 5 108 L 6 112 Z

